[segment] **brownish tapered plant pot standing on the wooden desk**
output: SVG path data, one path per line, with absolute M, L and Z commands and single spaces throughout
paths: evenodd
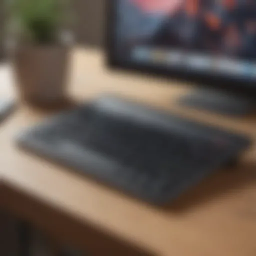
M 55 106 L 66 99 L 69 47 L 18 47 L 13 54 L 21 98 L 39 106 Z

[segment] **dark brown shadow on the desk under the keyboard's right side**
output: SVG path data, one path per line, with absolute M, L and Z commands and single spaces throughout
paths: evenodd
M 237 191 L 252 185 L 256 186 L 256 162 L 230 166 L 209 176 L 165 206 L 164 210 L 174 213 L 185 212 L 221 196 L 235 196 Z M 256 219 L 256 211 L 254 218 Z

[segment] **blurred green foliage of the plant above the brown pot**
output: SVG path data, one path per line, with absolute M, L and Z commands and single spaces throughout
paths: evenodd
M 70 18 L 68 0 L 7 0 L 7 7 L 11 29 L 22 40 L 37 44 L 55 42 L 60 27 Z

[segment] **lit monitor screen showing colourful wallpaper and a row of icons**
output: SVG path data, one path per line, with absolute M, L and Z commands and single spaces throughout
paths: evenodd
M 256 0 L 118 0 L 127 61 L 256 78 Z

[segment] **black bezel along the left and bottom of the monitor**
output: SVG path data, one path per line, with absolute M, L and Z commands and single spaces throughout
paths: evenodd
M 256 100 L 256 79 L 254 81 L 246 78 L 232 78 L 227 75 L 216 75 L 209 73 L 196 73 L 192 70 L 181 70 L 175 68 L 151 67 L 139 63 L 128 63 L 120 61 L 115 52 L 115 25 L 116 6 L 118 0 L 107 1 L 106 22 L 106 63 L 109 68 L 136 71 L 144 74 L 160 75 L 182 82 L 188 82 L 198 87 L 210 87 L 223 90 L 233 94 L 248 96 Z M 256 65 L 256 60 L 255 60 Z

